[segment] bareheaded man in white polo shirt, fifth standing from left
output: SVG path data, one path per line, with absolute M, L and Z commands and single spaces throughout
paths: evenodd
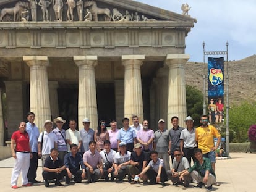
M 69 120 L 69 129 L 66 130 L 66 139 L 67 139 L 67 150 L 70 152 L 70 145 L 72 143 L 77 144 L 77 150 L 81 151 L 82 138 L 80 132 L 75 128 L 77 127 L 77 122 L 74 119 Z

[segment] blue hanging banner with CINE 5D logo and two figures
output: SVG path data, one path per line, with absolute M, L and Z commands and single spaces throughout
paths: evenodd
M 223 120 L 224 57 L 208 57 L 208 112 L 211 123 Z

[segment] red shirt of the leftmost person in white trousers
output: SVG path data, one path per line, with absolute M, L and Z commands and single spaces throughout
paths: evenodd
M 30 152 L 28 133 L 20 132 L 20 130 L 12 133 L 12 140 L 15 140 L 16 148 L 15 151 L 19 152 Z

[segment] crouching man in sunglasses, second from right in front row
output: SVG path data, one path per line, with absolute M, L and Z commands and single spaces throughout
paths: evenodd
M 168 177 L 173 182 L 173 185 L 184 185 L 184 187 L 189 187 L 189 183 L 191 182 L 192 178 L 190 174 L 184 175 L 184 184 L 182 181 L 179 180 L 179 177 L 182 173 L 185 173 L 187 169 L 190 168 L 189 161 L 186 157 L 183 157 L 181 154 L 181 149 L 176 148 L 174 149 L 174 159 L 173 165 L 171 167 L 171 171 L 168 171 Z

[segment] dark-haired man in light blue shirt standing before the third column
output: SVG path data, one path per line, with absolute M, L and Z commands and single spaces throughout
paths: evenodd
M 117 135 L 117 143 L 119 145 L 120 142 L 126 143 L 127 151 L 132 152 L 134 149 L 134 144 L 136 143 L 136 132 L 134 128 L 129 127 L 129 119 L 124 118 L 122 119 L 122 125 L 124 127 L 118 131 Z

